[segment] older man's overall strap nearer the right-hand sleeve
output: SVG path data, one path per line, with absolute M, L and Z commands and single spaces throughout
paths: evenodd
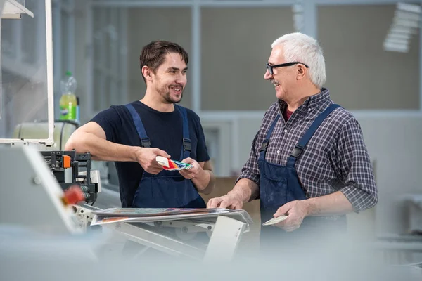
M 341 106 L 333 103 L 332 105 L 328 106 L 327 109 L 324 110 L 324 112 L 322 112 L 318 117 L 316 117 L 316 119 L 311 124 L 311 126 L 309 126 L 309 129 L 305 132 L 305 134 L 300 139 L 299 143 L 295 145 L 295 148 L 293 148 L 292 154 L 287 159 L 286 166 L 291 166 L 291 167 L 295 166 L 296 160 L 298 159 L 299 155 L 302 153 L 303 148 L 305 148 L 309 140 L 312 138 L 312 136 L 314 136 L 314 133 L 322 124 L 322 122 L 324 122 L 324 119 L 326 119 L 326 117 L 338 107 L 341 107 Z

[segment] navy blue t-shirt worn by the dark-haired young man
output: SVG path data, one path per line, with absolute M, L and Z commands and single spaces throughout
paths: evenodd
M 159 112 L 144 105 L 139 100 L 132 103 L 141 117 L 146 134 L 151 140 L 151 148 L 160 148 L 174 160 L 181 159 L 183 143 L 182 118 L 178 110 Z M 197 162 L 210 160 L 205 144 L 200 118 L 186 108 L 191 138 L 191 158 Z M 91 121 L 99 124 L 106 132 L 106 138 L 113 143 L 141 146 L 132 115 L 124 105 L 112 105 L 96 115 Z M 136 189 L 141 181 L 143 168 L 138 162 L 115 162 L 120 185 L 122 207 L 131 207 Z

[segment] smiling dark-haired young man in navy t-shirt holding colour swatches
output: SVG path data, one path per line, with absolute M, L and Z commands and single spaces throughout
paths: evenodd
M 198 115 L 176 105 L 187 82 L 188 53 L 178 44 L 153 41 L 139 60 L 145 96 L 98 113 L 72 134 L 65 150 L 115 161 L 122 207 L 205 208 L 198 192 L 208 194 L 215 185 L 205 136 Z M 165 171 L 156 156 L 193 167 Z

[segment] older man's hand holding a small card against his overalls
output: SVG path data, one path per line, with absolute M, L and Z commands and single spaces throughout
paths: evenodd
M 308 215 L 308 209 L 309 208 L 306 200 L 296 200 L 288 202 L 276 211 L 276 214 L 274 214 L 274 218 L 281 215 L 287 215 L 288 217 L 284 221 L 281 221 L 275 224 L 274 226 L 282 228 L 287 232 L 298 229 L 302 224 L 302 221 L 305 216 Z

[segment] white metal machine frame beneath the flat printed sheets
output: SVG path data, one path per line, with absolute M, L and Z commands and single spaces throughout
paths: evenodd
M 92 211 L 100 209 L 91 206 L 75 206 L 79 216 L 80 226 L 86 231 L 89 228 L 94 214 Z M 189 243 L 188 240 L 170 237 L 160 233 L 160 227 L 175 228 L 180 233 L 207 232 L 210 242 L 206 249 Z M 248 229 L 248 223 L 238 221 L 228 216 L 218 216 L 215 223 L 203 223 L 186 219 L 174 219 L 173 221 L 155 221 L 153 223 L 108 223 L 104 228 L 113 230 L 118 235 L 136 242 L 144 247 L 139 249 L 136 256 L 145 254 L 148 249 L 155 249 L 171 256 L 178 256 L 203 262 L 226 262 L 231 261 L 236 253 L 238 244 L 243 233 Z

